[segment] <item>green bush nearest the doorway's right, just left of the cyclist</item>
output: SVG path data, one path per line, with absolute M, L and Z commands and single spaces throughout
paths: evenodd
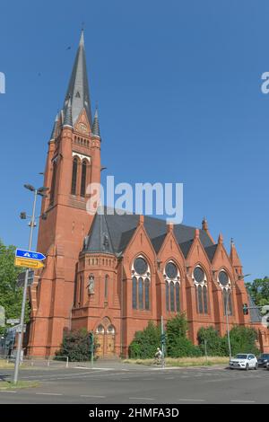
M 129 356 L 133 358 L 152 358 L 161 347 L 161 328 L 149 321 L 143 331 L 136 331 L 134 339 L 129 346 Z

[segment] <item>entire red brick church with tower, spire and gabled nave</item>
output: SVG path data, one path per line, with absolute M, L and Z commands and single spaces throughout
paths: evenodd
M 66 329 L 93 330 L 98 356 L 127 356 L 136 330 L 186 312 L 189 338 L 200 327 L 226 332 L 253 325 L 262 347 L 268 330 L 249 303 L 236 247 L 220 234 L 143 215 L 89 215 L 87 186 L 100 182 L 100 125 L 91 117 L 83 32 L 65 95 L 48 141 L 38 251 L 47 256 L 30 288 L 27 353 L 54 355 Z M 203 212 L 203 210 L 201 210 Z

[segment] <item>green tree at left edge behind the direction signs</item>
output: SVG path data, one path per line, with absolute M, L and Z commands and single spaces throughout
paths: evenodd
M 4 306 L 6 319 L 19 319 L 22 309 L 22 287 L 17 286 L 21 268 L 14 266 L 15 246 L 5 246 L 0 241 L 0 305 Z M 25 321 L 29 321 L 30 305 L 27 303 Z M 5 328 L 0 327 L 0 333 Z

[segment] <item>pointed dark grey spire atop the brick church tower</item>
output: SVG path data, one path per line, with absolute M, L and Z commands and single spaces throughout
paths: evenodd
M 67 110 L 69 99 L 71 101 L 73 126 L 83 109 L 85 109 L 91 125 L 91 101 L 87 76 L 83 30 L 74 60 L 72 75 L 65 95 L 64 113 Z

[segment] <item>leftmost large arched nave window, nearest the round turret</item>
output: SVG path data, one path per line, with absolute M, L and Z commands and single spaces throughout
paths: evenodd
M 139 256 L 134 259 L 133 275 L 133 309 L 150 310 L 151 272 L 147 261 Z

